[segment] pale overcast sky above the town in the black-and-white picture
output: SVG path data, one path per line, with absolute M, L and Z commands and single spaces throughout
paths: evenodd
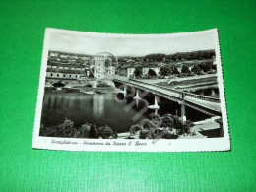
M 50 50 L 96 55 L 110 52 L 115 56 L 144 56 L 214 49 L 216 31 L 163 35 L 113 35 L 99 33 L 50 32 Z

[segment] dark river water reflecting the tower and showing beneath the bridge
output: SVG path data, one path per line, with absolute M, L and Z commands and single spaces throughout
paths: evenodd
M 146 96 L 145 98 L 150 105 L 154 103 L 154 96 Z M 125 100 L 126 103 L 117 100 Z M 133 107 L 125 110 L 127 105 L 131 103 Z M 97 127 L 108 125 L 117 133 L 122 133 L 129 131 L 131 125 L 137 124 L 143 119 L 148 119 L 152 113 L 158 113 L 160 116 L 166 113 L 180 115 L 180 105 L 176 102 L 160 98 L 159 106 L 158 111 L 147 109 L 145 112 L 141 112 L 142 115 L 137 119 L 133 119 L 144 108 L 144 102 L 135 101 L 132 97 L 124 96 L 121 93 L 116 95 L 112 93 L 84 94 L 80 92 L 45 91 L 41 126 L 55 126 L 63 123 L 67 118 L 74 122 L 75 127 L 85 123 L 92 123 Z M 186 116 L 191 121 L 199 121 L 210 117 L 188 107 L 186 107 Z

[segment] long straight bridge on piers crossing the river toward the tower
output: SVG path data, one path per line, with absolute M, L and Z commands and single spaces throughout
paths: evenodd
M 125 77 L 120 76 L 113 76 L 112 81 L 121 83 L 125 86 L 132 86 L 136 88 L 137 97 L 139 97 L 138 89 L 140 89 L 152 93 L 155 96 L 155 102 L 157 100 L 156 96 L 161 96 L 166 99 L 178 102 L 180 104 L 183 103 L 185 106 L 188 106 L 211 116 L 221 115 L 220 98 L 199 96 L 188 92 L 181 92 L 172 88 L 166 88 L 160 85 L 141 82 L 135 79 L 126 79 Z M 126 89 L 125 86 L 124 89 Z M 155 103 L 155 105 L 156 104 L 157 103 Z

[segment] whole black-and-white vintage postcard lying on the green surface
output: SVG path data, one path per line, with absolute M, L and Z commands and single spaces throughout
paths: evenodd
M 32 148 L 229 151 L 218 30 L 46 29 Z

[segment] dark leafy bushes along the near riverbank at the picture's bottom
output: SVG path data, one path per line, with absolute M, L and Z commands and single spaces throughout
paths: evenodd
M 62 124 L 40 128 L 40 136 L 63 138 L 91 138 L 91 139 L 178 139 L 183 136 L 195 136 L 191 129 L 195 124 L 191 121 L 181 122 L 180 117 L 165 114 L 145 121 L 143 125 L 132 125 L 129 133 L 116 133 L 109 126 L 96 127 L 86 123 L 74 127 L 74 122 L 65 119 Z M 126 136 L 126 137 L 124 137 Z

